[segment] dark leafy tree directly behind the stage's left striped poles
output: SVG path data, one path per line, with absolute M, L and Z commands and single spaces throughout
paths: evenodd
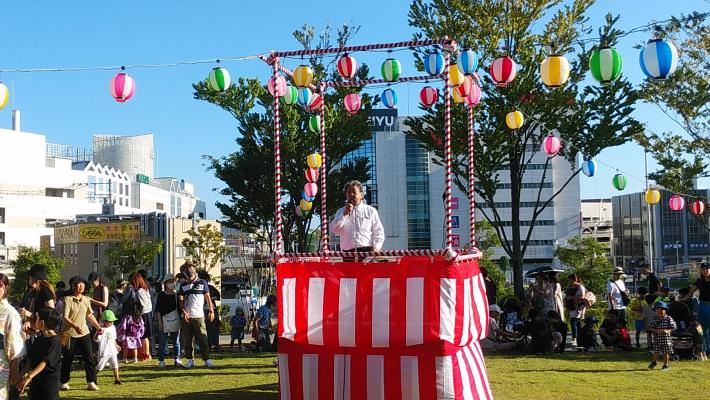
M 342 47 L 357 33 L 359 28 L 344 25 L 337 30 L 337 45 Z M 305 49 L 331 46 L 331 29 L 326 27 L 316 35 L 313 27 L 304 25 L 294 32 L 294 37 Z M 287 62 L 288 60 L 283 60 Z M 334 63 L 323 63 L 320 56 L 303 62 L 314 70 L 314 81 L 342 80 Z M 265 66 L 265 70 L 268 68 Z M 355 79 L 367 79 L 369 68 L 362 65 Z M 193 85 L 195 98 L 204 100 L 228 111 L 238 125 L 236 143 L 238 149 L 223 157 L 205 156 L 208 168 L 226 185 L 219 192 L 228 198 L 217 202 L 224 215 L 223 224 L 252 233 L 257 240 L 268 243 L 274 249 L 274 123 L 273 97 L 257 79 L 239 78 L 222 93 L 211 91 L 205 81 Z M 362 94 L 362 108 L 350 115 L 343 106 L 348 93 L 358 93 L 361 88 L 331 89 L 325 95 L 325 129 L 328 134 L 328 149 L 324 168 L 328 171 L 328 215 L 333 215 L 342 205 L 342 188 L 351 179 L 368 180 L 368 167 L 364 158 L 338 167 L 344 156 L 357 149 L 372 135 L 368 119 L 375 99 Z M 282 105 L 281 108 L 281 160 L 282 160 L 282 210 L 283 233 L 286 251 L 306 251 L 309 232 L 316 228 L 320 215 L 318 193 L 310 213 L 298 217 L 295 209 L 301 199 L 306 156 L 319 149 L 319 135 L 308 129 L 308 119 L 315 115 L 299 106 Z M 291 248 L 295 244 L 295 248 Z

